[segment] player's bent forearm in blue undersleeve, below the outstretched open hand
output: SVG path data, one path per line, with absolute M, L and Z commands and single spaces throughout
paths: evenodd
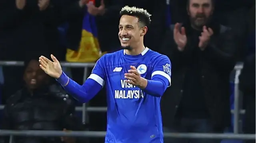
M 74 80 L 70 79 L 64 72 L 62 72 L 57 81 L 70 95 L 80 102 L 88 102 L 102 88 L 98 82 L 90 78 L 86 80 L 83 85 L 79 85 Z

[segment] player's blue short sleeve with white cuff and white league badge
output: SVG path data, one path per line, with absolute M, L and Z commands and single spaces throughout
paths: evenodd
M 154 61 L 151 78 L 153 79 L 154 77 L 158 77 L 164 81 L 167 79 L 169 82 L 169 87 L 171 86 L 171 69 L 172 66 L 170 59 L 165 55 L 161 55 Z

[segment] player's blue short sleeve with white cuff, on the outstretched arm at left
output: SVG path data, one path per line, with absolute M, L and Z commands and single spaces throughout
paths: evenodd
M 98 82 L 98 84 L 100 84 L 101 86 L 104 86 L 106 80 L 106 74 L 104 70 L 105 61 L 105 55 L 103 55 L 100 59 L 98 59 L 92 69 L 92 73 L 88 77 Z

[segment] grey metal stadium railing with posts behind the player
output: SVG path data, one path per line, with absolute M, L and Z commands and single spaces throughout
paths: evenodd
M 2 66 L 23 66 L 22 61 L 0 61 Z M 83 67 L 84 68 L 84 81 L 88 76 L 88 67 L 94 67 L 95 63 L 66 63 L 61 62 L 63 67 Z M 244 114 L 244 110 L 240 110 L 240 91 L 239 75 L 243 68 L 242 63 L 237 64 L 234 67 L 235 79 L 234 79 L 234 110 L 231 113 L 234 114 L 234 134 L 216 134 L 216 133 L 165 133 L 166 137 L 182 137 L 182 138 L 214 138 L 214 139 L 255 139 L 255 134 L 238 134 L 239 133 L 239 117 L 240 114 Z M 4 105 L 0 105 L 0 110 L 4 108 Z M 106 107 L 86 107 L 84 103 L 82 107 L 76 107 L 77 111 L 82 111 L 82 121 L 86 122 L 87 112 L 106 112 Z M 10 143 L 14 135 L 26 135 L 26 136 L 83 136 L 83 137 L 104 137 L 106 132 L 102 131 L 72 131 L 70 133 L 64 133 L 62 131 L 11 131 L 11 130 L 0 130 L 0 135 L 10 135 Z

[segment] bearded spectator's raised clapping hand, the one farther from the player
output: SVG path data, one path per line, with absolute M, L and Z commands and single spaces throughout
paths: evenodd
M 203 31 L 201 33 L 201 36 L 199 36 L 199 44 L 198 47 L 204 51 L 206 48 L 208 42 L 210 41 L 210 37 L 213 35 L 213 31 L 211 28 L 206 28 L 206 26 L 203 27 Z

